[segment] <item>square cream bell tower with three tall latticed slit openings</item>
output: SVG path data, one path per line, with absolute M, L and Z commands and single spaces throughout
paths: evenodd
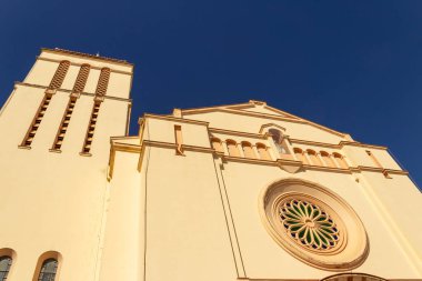
M 62 280 L 94 280 L 110 137 L 128 133 L 132 73 L 123 60 L 42 49 L 16 82 L 0 111 L 0 248 L 20 264 L 8 280 L 32 280 L 46 259 L 67 263 Z

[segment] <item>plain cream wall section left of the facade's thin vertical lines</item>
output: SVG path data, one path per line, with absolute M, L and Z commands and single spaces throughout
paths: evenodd
M 142 169 L 148 169 L 145 280 L 235 280 L 212 155 L 151 148 Z

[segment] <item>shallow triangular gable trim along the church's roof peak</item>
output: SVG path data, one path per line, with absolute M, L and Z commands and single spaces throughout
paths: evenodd
M 251 117 L 258 117 L 258 118 L 268 118 L 268 119 L 275 119 L 275 120 L 284 120 L 284 121 L 292 121 L 292 122 L 299 122 L 299 123 L 307 123 L 312 127 L 319 128 L 321 130 L 331 132 L 333 134 L 350 138 L 349 134 L 342 133 L 335 130 L 332 130 L 328 127 L 314 123 L 312 121 L 309 121 L 307 119 L 297 117 L 294 114 L 288 113 L 285 111 L 279 110 L 277 108 L 270 107 L 264 101 L 257 101 L 257 100 L 250 100 L 245 103 L 237 103 L 237 104 L 227 104 L 227 106 L 218 106 L 218 107 L 205 107 L 205 108 L 194 108 L 194 109 L 183 109 L 181 110 L 182 116 L 190 116 L 190 114 L 199 114 L 199 113 L 207 113 L 207 112 L 227 112 L 227 113 L 233 113 L 233 114 L 248 114 Z

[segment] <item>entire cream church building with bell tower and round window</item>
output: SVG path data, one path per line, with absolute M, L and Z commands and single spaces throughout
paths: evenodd
M 422 280 L 381 145 L 263 101 L 145 113 L 133 66 L 42 49 L 0 111 L 0 281 Z

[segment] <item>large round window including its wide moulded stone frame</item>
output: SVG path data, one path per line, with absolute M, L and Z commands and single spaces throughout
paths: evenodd
M 261 197 L 271 237 L 289 253 L 325 270 L 350 270 L 368 254 L 363 224 L 339 195 L 303 180 L 282 180 Z

